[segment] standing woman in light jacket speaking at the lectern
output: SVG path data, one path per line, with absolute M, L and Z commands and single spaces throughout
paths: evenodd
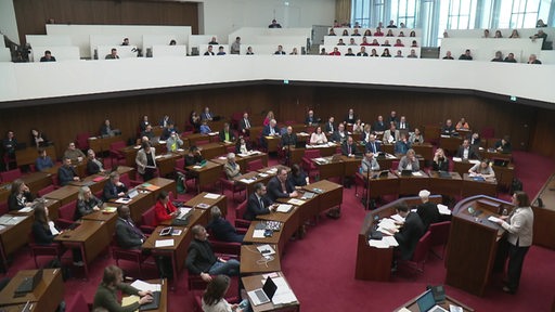
M 503 286 L 503 291 L 508 294 L 515 294 L 518 290 L 522 264 L 533 237 L 533 211 L 528 194 L 522 191 L 515 192 L 513 205 L 515 205 L 513 213 L 502 216 L 498 221 L 507 231 L 508 268 L 507 282 Z

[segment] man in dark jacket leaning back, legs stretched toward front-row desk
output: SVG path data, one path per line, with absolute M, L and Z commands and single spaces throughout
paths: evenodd
M 196 224 L 191 231 L 193 233 L 193 240 L 189 245 L 185 260 L 189 274 L 201 276 L 204 282 L 210 282 L 212 280 L 210 275 L 238 275 L 238 261 L 235 259 L 223 260 L 217 258 L 207 239 L 206 229 L 203 225 Z

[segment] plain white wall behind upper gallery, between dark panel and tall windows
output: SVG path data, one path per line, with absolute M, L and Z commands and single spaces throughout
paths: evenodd
M 335 0 L 204 0 L 199 1 L 199 31 L 221 40 L 241 27 L 267 27 L 273 18 L 282 27 L 333 25 Z M 284 5 L 288 2 L 289 5 Z M 204 21 L 204 24 L 203 24 Z M 204 30 L 203 30 L 204 29 Z M 220 42 L 229 43 L 229 42 Z

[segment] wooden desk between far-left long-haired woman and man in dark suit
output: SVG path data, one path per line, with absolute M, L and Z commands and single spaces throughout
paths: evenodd
M 67 248 L 78 247 L 81 250 L 85 275 L 88 278 L 89 264 L 108 247 L 112 235 L 106 223 L 82 220 L 81 224 L 75 230 L 57 235 L 54 240 L 62 243 Z

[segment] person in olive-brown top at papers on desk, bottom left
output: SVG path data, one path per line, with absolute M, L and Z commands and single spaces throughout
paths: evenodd
M 94 294 L 93 309 L 94 311 L 137 311 L 143 304 L 152 302 L 151 290 L 139 290 L 130 285 L 124 284 L 124 272 L 116 265 L 108 265 L 104 269 L 104 276 L 102 283 Z M 117 291 L 126 295 L 135 295 L 141 297 L 139 301 L 129 306 L 121 307 L 118 301 Z M 102 311 L 104 311 L 102 310 Z

